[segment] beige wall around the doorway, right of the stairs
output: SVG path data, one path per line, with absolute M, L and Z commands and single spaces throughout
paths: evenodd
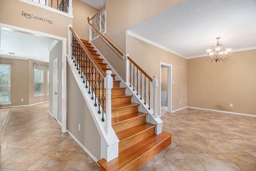
M 170 52 L 126 36 L 126 51 L 151 77 L 160 76 L 160 62 L 172 65 L 172 111 L 187 105 L 187 61 Z M 158 113 L 160 113 L 160 88 L 158 87 Z M 181 101 L 181 104 L 180 104 Z

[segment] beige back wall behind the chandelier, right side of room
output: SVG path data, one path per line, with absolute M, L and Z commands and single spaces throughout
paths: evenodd
M 189 59 L 188 106 L 256 115 L 255 54 L 232 52 L 222 63 Z

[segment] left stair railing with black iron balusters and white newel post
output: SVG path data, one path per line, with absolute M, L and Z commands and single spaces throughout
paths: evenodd
M 104 102 L 106 97 L 104 96 L 104 81 L 107 76 L 99 64 L 96 62 L 90 51 L 84 46 L 80 38 L 78 38 L 76 32 L 74 32 L 73 28 L 70 27 L 70 31 L 72 32 L 72 57 L 71 59 L 75 63 L 76 70 L 78 70 L 78 74 L 80 74 L 81 79 L 83 79 L 83 83 L 85 87 L 88 88 L 88 94 L 91 94 L 91 99 L 94 100 L 94 106 L 98 107 L 98 113 L 102 113 L 102 121 L 104 122 Z M 109 71 L 111 73 L 111 71 Z M 109 74 L 108 72 L 108 74 Z M 111 75 L 111 74 L 110 74 Z M 106 113 L 106 117 L 108 119 L 106 124 L 111 126 L 111 80 L 108 79 L 107 87 L 110 88 L 110 97 L 107 98 L 106 101 L 106 109 L 110 112 Z M 106 84 L 106 82 L 105 82 Z M 112 80 L 113 85 L 113 80 Z M 109 92 L 108 92 L 109 96 Z M 101 108 L 102 107 L 102 108 Z M 108 116 L 107 116 L 108 115 Z

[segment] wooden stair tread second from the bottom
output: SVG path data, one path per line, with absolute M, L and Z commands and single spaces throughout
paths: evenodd
M 140 133 L 142 131 L 145 131 L 146 129 L 150 129 L 155 126 L 156 125 L 154 125 L 152 123 L 144 122 L 140 125 L 136 125 L 129 129 L 125 129 L 124 131 L 117 132 L 116 135 L 117 135 L 119 141 L 124 141 L 125 139 L 132 137 L 132 136 L 136 135 L 137 133 Z

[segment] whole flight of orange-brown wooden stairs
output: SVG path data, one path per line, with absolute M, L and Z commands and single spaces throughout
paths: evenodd
M 82 42 L 104 72 L 111 70 L 88 41 Z M 147 113 L 139 112 L 140 104 L 132 103 L 132 95 L 125 94 L 126 87 L 120 87 L 120 80 L 115 80 L 114 74 L 112 78 L 112 127 L 120 140 L 119 157 L 109 162 L 100 159 L 98 164 L 101 171 L 137 170 L 170 145 L 172 134 L 162 131 L 156 135 L 156 125 L 146 122 Z

